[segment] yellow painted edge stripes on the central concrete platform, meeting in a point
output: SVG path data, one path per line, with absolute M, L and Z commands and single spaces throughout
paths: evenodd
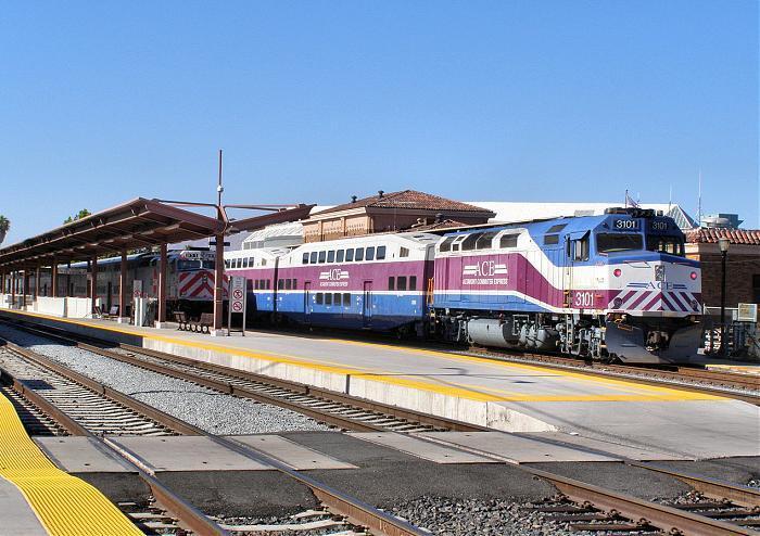
M 262 359 L 270 362 L 278 362 L 278 363 L 283 363 L 283 365 L 295 365 L 299 367 L 304 367 L 304 368 L 309 368 L 309 369 L 315 369 L 324 372 L 332 372 L 337 374 L 351 374 L 353 378 L 363 378 L 366 380 L 371 380 L 371 381 L 377 381 L 381 383 L 388 383 L 392 385 L 401 385 L 401 386 L 406 386 L 410 388 L 417 388 L 420 391 L 428 391 L 432 393 L 439 393 L 443 395 L 448 395 L 448 396 L 456 396 L 459 398 L 466 398 L 470 400 L 477 400 L 477 401 L 600 401 L 598 398 L 598 395 L 570 395 L 570 396 L 562 396 L 562 395 L 557 395 L 557 396 L 552 396 L 552 395 L 522 395 L 522 396 L 504 396 L 504 395 L 494 395 L 494 394 L 489 394 L 489 393 L 483 393 L 479 388 L 472 388 L 472 387 L 461 387 L 461 386 L 454 386 L 454 385 L 442 385 L 442 384 L 435 384 L 435 383 L 430 383 L 430 382 L 423 382 L 423 381 L 417 381 L 417 380 L 408 380 L 405 378 L 400 378 L 393 372 L 390 371 L 368 371 L 366 369 L 359 369 L 359 368 L 351 368 L 345 365 L 340 365 L 340 366 L 332 366 L 332 365 L 321 365 L 319 362 L 314 362 L 309 361 L 308 358 L 302 358 L 299 356 L 290 356 L 287 354 L 269 354 L 266 352 L 254 352 L 254 350 L 249 350 L 245 348 L 240 348 L 237 346 L 223 346 L 220 344 L 214 344 L 214 343 L 201 343 L 201 342 L 195 342 L 195 341 L 186 341 L 181 339 L 174 339 L 170 336 L 166 335 L 154 335 L 152 333 L 142 333 L 139 331 L 128 331 L 125 329 L 119 329 L 119 328 L 114 328 L 111 326 L 101 326 L 101 324 L 93 324 L 93 323 L 86 323 L 80 320 L 76 319 L 68 319 L 68 318 L 59 318 L 59 317 L 53 317 L 49 315 L 41 315 L 39 312 L 30 312 L 30 311 L 20 311 L 20 310 L 13 310 L 13 309 L 0 309 L 0 311 L 8 311 L 14 315 L 18 316 L 30 316 L 30 317 L 38 317 L 38 318 L 43 318 L 47 320 L 52 320 L 55 322 L 62 322 L 62 323 L 71 323 L 74 326 L 79 326 L 84 328 L 90 328 L 90 329 L 96 329 L 96 330 L 102 330 L 102 331 L 111 331 L 114 333 L 119 333 L 123 335 L 129 335 L 129 336 L 137 336 L 141 339 L 147 339 L 150 341 L 159 341 L 159 342 L 164 342 L 168 344 L 177 344 L 180 346 L 186 346 L 190 348 L 198 348 L 198 349 L 203 349 L 203 350 L 208 350 L 208 352 L 217 352 L 220 354 L 227 354 L 227 355 L 232 355 L 232 356 L 242 356 L 242 357 L 251 357 L 254 359 Z M 83 319 L 85 320 L 85 319 Z M 445 352 L 436 352 L 436 350 L 429 350 L 429 349 L 422 349 L 422 348 L 404 348 L 404 347 L 398 347 L 394 345 L 389 345 L 389 344 L 382 344 L 382 343 L 371 343 L 371 342 L 360 342 L 360 341 L 344 341 L 340 339 L 318 339 L 315 340 L 317 342 L 338 342 L 341 344 L 350 344 L 350 345 L 366 345 L 366 346 L 376 346 L 376 347 L 382 347 L 382 348 L 388 348 L 388 349 L 393 349 L 395 352 L 400 353 L 405 353 L 405 354 L 414 354 L 414 353 L 420 353 L 425 355 L 430 355 L 433 357 L 439 357 L 439 358 L 445 358 L 445 359 L 451 359 L 454 361 L 461 361 L 461 362 L 477 362 L 478 365 L 485 365 L 485 366 L 493 366 L 493 367 L 501 367 L 501 368 L 511 368 L 511 369 L 522 369 L 522 370 L 530 370 L 530 371 L 535 371 L 535 372 L 542 372 L 546 373 L 548 369 L 542 368 L 541 366 L 537 365 L 528 365 L 528 363 L 517 363 L 517 362 L 511 362 L 511 361 L 498 361 L 494 359 L 484 359 L 481 357 L 474 357 L 474 356 L 466 356 L 461 354 L 449 354 Z M 584 381 L 584 382 L 592 382 L 592 383 L 604 383 L 607 385 L 611 386 L 617 386 L 624 388 L 625 391 L 633 391 L 632 394 L 620 394 L 620 395 L 605 395 L 607 396 L 607 401 L 684 401 L 684 400 L 730 400 L 730 398 L 720 396 L 720 395 L 711 395 L 707 393 L 698 393 L 694 391 L 688 391 L 688 390 L 681 390 L 675 386 L 657 386 L 657 385 L 647 385 L 643 383 L 637 383 L 633 381 L 626 381 L 623 379 L 616 379 L 616 378 L 599 378 L 597 375 L 593 374 L 586 374 L 583 372 L 574 372 L 574 371 L 569 371 L 569 370 L 558 370 L 558 369 L 552 369 L 552 373 L 561 375 L 565 378 L 570 378 L 577 381 Z M 649 394 L 645 394 L 642 392 L 647 392 Z

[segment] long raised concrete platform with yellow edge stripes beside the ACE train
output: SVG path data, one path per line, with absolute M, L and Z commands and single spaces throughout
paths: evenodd
M 566 432 L 670 457 L 760 455 L 760 408 L 675 387 L 507 363 L 455 353 L 248 332 L 211 337 L 172 329 L 0 316 L 64 327 L 183 357 L 350 393 L 507 432 Z

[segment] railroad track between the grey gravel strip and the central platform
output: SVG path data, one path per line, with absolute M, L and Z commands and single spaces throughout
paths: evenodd
M 11 324 L 35 335 L 126 362 L 145 370 L 186 380 L 221 393 L 251 398 L 305 414 L 341 430 L 354 432 L 474 432 L 484 426 L 367 400 L 311 385 L 275 379 L 239 369 L 188 359 L 128 344 L 81 337 L 61 330 Z M 89 341 L 89 342 L 86 342 Z

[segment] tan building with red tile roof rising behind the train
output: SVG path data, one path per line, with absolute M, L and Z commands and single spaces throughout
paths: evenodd
M 378 192 L 351 203 L 312 214 L 303 221 L 304 242 L 320 242 L 372 232 L 402 231 L 451 219 L 463 225 L 486 224 L 495 214 L 487 208 L 439 195 L 403 190 Z

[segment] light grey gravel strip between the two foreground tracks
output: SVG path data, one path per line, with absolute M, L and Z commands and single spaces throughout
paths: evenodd
M 217 435 L 330 430 L 277 406 L 210 388 L 0 326 L 0 336 Z

